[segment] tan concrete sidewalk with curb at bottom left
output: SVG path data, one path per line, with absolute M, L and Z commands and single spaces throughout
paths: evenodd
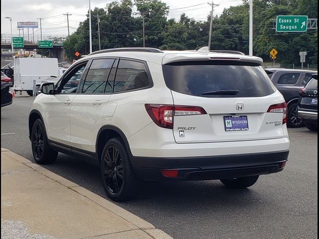
M 171 239 L 110 201 L 1 148 L 1 239 Z

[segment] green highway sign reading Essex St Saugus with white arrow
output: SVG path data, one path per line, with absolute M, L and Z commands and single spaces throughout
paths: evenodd
M 277 16 L 277 32 L 307 31 L 308 16 Z

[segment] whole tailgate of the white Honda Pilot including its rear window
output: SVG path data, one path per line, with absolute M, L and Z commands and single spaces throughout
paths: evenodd
M 175 107 L 201 107 L 207 113 L 175 112 L 173 134 L 177 143 L 284 136 L 285 100 L 260 65 L 235 61 L 176 62 L 163 65 L 163 75 Z

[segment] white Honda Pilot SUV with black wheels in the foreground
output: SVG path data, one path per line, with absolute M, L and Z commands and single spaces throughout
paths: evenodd
M 140 180 L 252 186 L 283 170 L 290 143 L 285 100 L 261 64 L 207 47 L 93 52 L 42 84 L 29 115 L 34 159 L 85 156 L 116 201 Z

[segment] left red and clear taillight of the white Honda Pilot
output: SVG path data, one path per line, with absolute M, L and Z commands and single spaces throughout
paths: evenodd
M 174 116 L 207 114 L 203 108 L 195 106 L 145 104 L 145 109 L 151 119 L 163 128 L 173 128 Z

